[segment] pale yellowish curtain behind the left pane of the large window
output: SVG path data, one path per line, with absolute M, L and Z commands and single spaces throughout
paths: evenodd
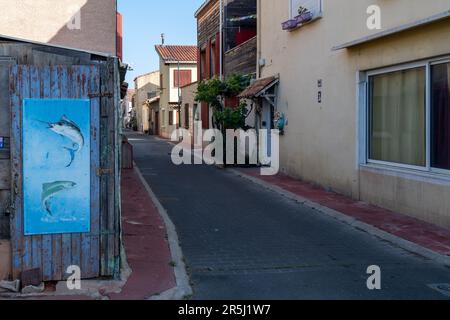
M 372 160 L 426 165 L 425 83 L 425 68 L 371 77 Z

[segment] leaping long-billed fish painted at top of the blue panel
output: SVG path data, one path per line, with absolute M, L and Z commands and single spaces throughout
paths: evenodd
M 66 168 L 70 167 L 75 160 L 75 155 L 84 146 L 84 137 L 81 133 L 80 127 L 72 120 L 67 118 L 65 115 L 61 117 L 61 120 L 55 123 L 48 123 L 45 121 L 40 121 L 48 125 L 48 129 L 54 133 L 69 139 L 72 142 L 72 148 L 64 147 L 70 154 L 70 162 Z

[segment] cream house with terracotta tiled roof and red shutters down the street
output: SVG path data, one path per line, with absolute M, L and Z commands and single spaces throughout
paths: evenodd
M 157 45 L 160 57 L 159 135 L 170 138 L 180 125 L 181 87 L 197 81 L 197 47 Z

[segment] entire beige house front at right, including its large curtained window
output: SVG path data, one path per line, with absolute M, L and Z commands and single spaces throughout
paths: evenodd
M 279 79 L 287 123 L 281 170 L 450 227 L 449 6 L 258 0 L 258 78 Z

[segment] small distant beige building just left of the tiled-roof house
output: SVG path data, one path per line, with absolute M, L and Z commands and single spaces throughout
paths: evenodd
M 133 109 L 139 132 L 150 133 L 151 114 L 147 101 L 159 97 L 159 81 L 159 71 L 146 73 L 134 79 L 135 96 Z

